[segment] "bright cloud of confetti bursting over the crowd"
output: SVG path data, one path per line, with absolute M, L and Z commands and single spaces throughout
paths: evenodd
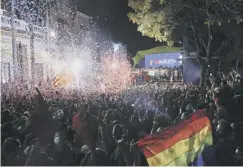
M 37 79 L 34 82 L 30 81 L 30 78 L 25 78 L 22 84 L 16 81 L 9 85 L 7 90 L 18 85 L 15 94 L 26 94 L 27 90 L 21 90 L 38 86 L 44 94 L 51 96 L 52 82 L 62 71 L 71 71 L 73 77 L 67 77 L 69 81 L 65 80 L 62 88 L 55 88 L 62 91 L 78 89 L 83 95 L 88 96 L 94 93 L 119 93 L 131 85 L 131 66 L 126 58 L 126 49 L 119 50 L 117 46 L 114 49 L 112 41 L 104 40 L 99 26 L 92 18 L 89 18 L 89 24 L 80 21 L 79 16 L 75 14 L 78 11 L 75 6 L 70 5 L 71 3 L 42 0 L 14 2 L 16 19 L 26 22 L 27 25 L 33 24 L 36 28 L 45 29 L 44 36 L 35 34 L 34 56 L 42 63 L 41 68 L 46 71 L 49 81 L 36 74 Z M 6 1 L 4 5 L 5 9 L 10 9 L 11 1 Z M 65 12 L 63 9 L 67 6 L 71 7 Z M 40 40 L 44 41 L 45 49 L 43 44 L 42 47 L 39 46 Z M 108 45 L 104 44 L 104 41 Z M 120 56 L 115 53 L 118 50 Z

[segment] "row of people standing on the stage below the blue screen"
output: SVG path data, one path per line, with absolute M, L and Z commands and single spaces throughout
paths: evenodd
M 151 68 L 151 69 L 136 69 L 133 71 L 135 82 L 149 82 L 149 81 L 159 81 L 159 82 L 181 82 L 182 69 L 178 68 Z

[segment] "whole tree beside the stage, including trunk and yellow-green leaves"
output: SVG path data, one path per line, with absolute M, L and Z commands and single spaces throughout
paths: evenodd
M 133 12 L 129 19 L 143 35 L 173 45 L 185 34 L 195 45 L 204 85 L 207 66 L 213 57 L 213 42 L 219 30 L 229 22 L 242 22 L 241 0 L 129 0 Z M 218 48 L 231 38 L 225 35 Z M 224 48 L 224 47 L 222 47 Z M 216 52 L 216 51 L 215 51 Z

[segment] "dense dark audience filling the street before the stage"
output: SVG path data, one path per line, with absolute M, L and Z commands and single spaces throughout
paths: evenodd
M 198 109 L 209 117 L 214 139 L 201 165 L 243 165 L 243 79 L 233 73 L 204 88 L 147 83 L 84 96 L 5 87 L 1 97 L 3 166 L 147 166 L 137 141 Z

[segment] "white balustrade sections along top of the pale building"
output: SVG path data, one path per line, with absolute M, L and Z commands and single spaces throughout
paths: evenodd
M 11 29 L 11 18 L 0 15 L 1 17 L 1 29 Z M 14 28 L 16 30 L 24 31 L 26 33 L 30 32 L 30 25 L 23 20 L 14 20 Z M 46 35 L 46 28 L 34 25 L 33 32 L 35 35 Z

